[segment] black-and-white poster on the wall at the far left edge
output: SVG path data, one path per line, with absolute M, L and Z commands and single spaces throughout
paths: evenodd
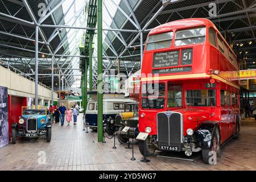
M 0 148 L 9 144 L 8 90 L 0 86 Z

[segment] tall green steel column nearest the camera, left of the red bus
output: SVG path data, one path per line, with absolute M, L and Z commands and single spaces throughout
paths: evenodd
M 102 0 L 97 1 L 97 34 L 98 34 L 98 142 L 103 142 L 103 98 L 102 98 Z

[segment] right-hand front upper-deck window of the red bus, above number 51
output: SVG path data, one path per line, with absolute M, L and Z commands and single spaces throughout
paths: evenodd
M 205 27 L 177 31 L 175 46 L 203 43 L 205 42 L 205 32 Z

